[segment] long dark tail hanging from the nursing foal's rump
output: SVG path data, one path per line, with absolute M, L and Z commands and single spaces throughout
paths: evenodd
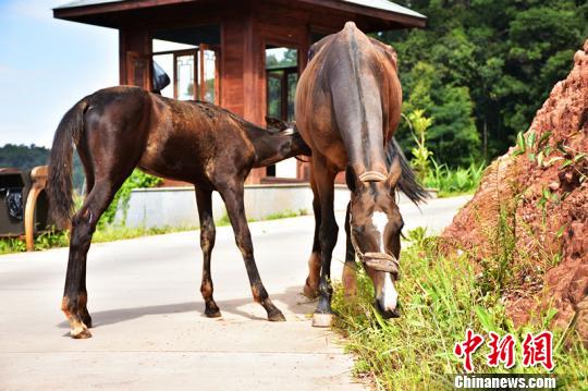
M 77 144 L 84 129 L 84 113 L 87 102 L 82 99 L 61 119 L 53 137 L 49 157 L 49 179 L 47 193 L 51 215 L 59 227 L 68 227 L 73 213 L 72 157 L 74 143 Z

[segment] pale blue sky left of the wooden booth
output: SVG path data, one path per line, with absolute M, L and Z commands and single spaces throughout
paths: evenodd
M 0 0 L 0 146 L 50 147 L 77 100 L 119 84 L 117 29 L 56 20 L 70 0 Z

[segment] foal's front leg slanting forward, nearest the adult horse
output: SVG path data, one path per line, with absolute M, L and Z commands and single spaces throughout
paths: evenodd
M 259 277 L 257 265 L 255 264 L 252 234 L 249 232 L 249 227 L 247 225 L 245 206 L 243 204 L 243 182 L 237 183 L 236 181 L 226 181 L 220 187 L 219 192 L 224 199 L 226 212 L 229 213 L 231 225 L 233 225 L 236 245 L 245 261 L 245 268 L 247 269 L 247 276 L 249 277 L 254 300 L 264 306 L 268 313 L 269 320 L 283 321 L 285 318 L 282 315 L 282 311 L 271 303 L 268 292 Z

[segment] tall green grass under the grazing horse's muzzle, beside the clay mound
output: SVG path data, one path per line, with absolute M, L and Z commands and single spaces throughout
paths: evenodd
M 480 285 L 480 276 L 466 255 L 443 257 L 434 243 L 434 239 L 427 239 L 403 252 L 402 279 L 396 286 L 403 313 L 399 319 L 384 320 L 373 310 L 371 280 L 362 267 L 358 267 L 362 271 L 356 298 L 345 298 L 341 285 L 335 286 L 333 308 L 340 317 L 334 327 L 347 338 L 346 350 L 356 356 L 355 375 L 369 377 L 379 389 L 452 388 L 445 374 L 463 372 L 453 347 L 464 340 L 467 328 L 485 337 L 489 331 L 501 335 L 511 332 L 518 340 L 517 367 L 511 370 L 487 367 L 485 345 L 474 356 L 477 372 L 543 372 L 541 366 L 520 366 L 522 335 L 546 330 L 554 310 L 548 310 L 535 323 L 515 329 L 498 293 Z M 573 328 L 565 333 L 551 331 L 555 374 L 565 375 L 571 382 L 568 389 L 587 389 L 588 352 L 577 341 Z

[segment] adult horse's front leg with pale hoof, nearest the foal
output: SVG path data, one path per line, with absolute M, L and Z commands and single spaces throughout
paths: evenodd
M 336 172 L 329 170 L 327 163 L 319 158 L 313 159 L 313 169 L 317 181 L 317 190 L 320 197 L 320 279 L 319 279 L 319 302 L 317 310 L 313 317 L 314 327 L 329 327 L 332 321 L 331 296 L 331 258 L 336 244 L 336 225 L 333 200 L 334 200 L 334 178 Z

